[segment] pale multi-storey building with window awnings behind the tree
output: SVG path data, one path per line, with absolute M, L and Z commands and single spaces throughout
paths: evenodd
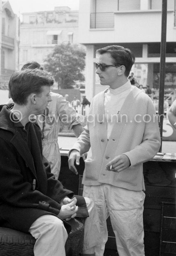
M 55 7 L 53 11 L 23 13 L 20 25 L 20 67 L 35 60 L 41 65 L 56 44 L 78 42 L 78 11 Z

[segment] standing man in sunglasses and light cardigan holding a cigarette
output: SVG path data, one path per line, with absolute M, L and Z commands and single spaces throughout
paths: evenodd
M 96 73 L 109 88 L 92 99 L 85 130 L 69 152 L 69 168 L 77 173 L 74 162 L 89 150 L 83 195 L 98 208 L 103 243 L 96 255 L 103 256 L 110 216 L 119 256 L 144 256 L 142 163 L 160 147 L 155 107 L 127 79 L 135 62 L 130 49 L 115 45 L 97 52 Z

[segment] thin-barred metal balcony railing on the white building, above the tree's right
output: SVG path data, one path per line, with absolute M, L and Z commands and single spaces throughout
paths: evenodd
M 90 28 L 113 28 L 114 13 L 91 13 Z

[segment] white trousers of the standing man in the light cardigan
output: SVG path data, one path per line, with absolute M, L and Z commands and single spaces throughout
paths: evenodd
M 143 191 L 132 191 L 109 184 L 84 186 L 83 196 L 94 200 L 99 214 L 103 242 L 95 246 L 96 256 L 103 256 L 108 240 L 106 220 L 116 236 L 119 256 L 144 256 Z

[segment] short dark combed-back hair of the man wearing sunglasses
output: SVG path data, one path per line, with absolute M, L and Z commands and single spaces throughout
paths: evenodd
M 133 52 L 119 45 L 110 45 L 97 50 L 99 54 L 109 53 L 110 56 L 114 59 L 115 65 L 123 65 L 125 66 L 125 73 L 127 77 L 130 74 L 132 65 L 135 62 L 135 56 Z

